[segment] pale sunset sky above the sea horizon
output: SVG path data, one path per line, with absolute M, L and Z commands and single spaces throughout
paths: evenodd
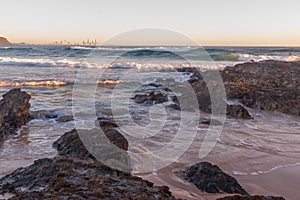
M 0 36 L 15 43 L 103 42 L 158 28 L 205 46 L 300 46 L 298 0 L 0 0 L 0 5 Z

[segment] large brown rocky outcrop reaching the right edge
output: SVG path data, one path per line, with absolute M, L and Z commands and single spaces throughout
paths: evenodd
M 246 106 L 300 115 L 300 63 L 246 62 L 222 72 L 227 98 Z

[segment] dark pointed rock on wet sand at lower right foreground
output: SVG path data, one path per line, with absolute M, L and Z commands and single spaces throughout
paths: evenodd
M 193 183 L 202 192 L 237 193 L 247 195 L 237 180 L 225 174 L 218 166 L 208 162 L 194 164 L 184 169 L 184 179 Z

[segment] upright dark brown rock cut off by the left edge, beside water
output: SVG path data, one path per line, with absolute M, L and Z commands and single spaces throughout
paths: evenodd
M 31 120 L 30 98 L 29 94 L 20 89 L 12 89 L 3 95 L 0 101 L 0 141 Z

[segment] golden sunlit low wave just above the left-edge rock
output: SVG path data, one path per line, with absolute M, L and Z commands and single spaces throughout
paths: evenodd
M 65 81 L 44 80 L 44 81 L 25 81 L 25 82 L 10 82 L 0 81 L 0 87 L 60 87 L 69 84 Z

